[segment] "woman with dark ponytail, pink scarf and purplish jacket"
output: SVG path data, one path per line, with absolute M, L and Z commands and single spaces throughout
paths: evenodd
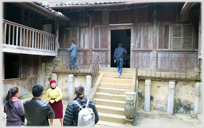
M 23 103 L 18 99 L 18 87 L 8 90 L 4 112 L 6 113 L 6 126 L 21 126 L 25 122 Z

